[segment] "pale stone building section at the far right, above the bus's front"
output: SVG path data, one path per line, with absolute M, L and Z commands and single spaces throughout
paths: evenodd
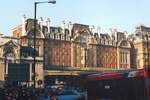
M 148 66 L 148 56 L 150 57 L 150 27 L 139 25 L 136 27 L 134 34 L 132 34 L 131 41 L 134 48 L 134 56 L 131 59 L 133 66 L 137 68 L 144 68 Z M 149 60 L 149 61 L 148 61 Z

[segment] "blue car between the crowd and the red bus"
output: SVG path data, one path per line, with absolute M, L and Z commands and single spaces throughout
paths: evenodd
M 57 95 L 58 100 L 83 100 L 83 96 L 74 89 L 64 89 L 59 95 Z

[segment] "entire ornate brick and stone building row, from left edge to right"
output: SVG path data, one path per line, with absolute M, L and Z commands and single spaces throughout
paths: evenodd
M 147 41 L 140 38 L 140 34 L 149 32 L 149 28 L 144 26 L 137 27 L 135 34 L 128 37 L 127 32 L 110 29 L 108 33 L 101 33 L 99 27 L 79 23 L 66 24 L 63 21 L 62 25 L 55 27 L 51 25 L 50 19 L 45 22 L 40 18 L 36 29 L 36 80 L 51 75 L 143 68 L 148 63 L 144 56 L 148 50 L 145 44 Z M 5 37 L 4 42 L 0 43 L 0 59 L 4 71 L 2 80 L 5 80 L 7 74 L 8 61 L 29 63 L 32 67 L 34 20 L 23 16 L 22 23 L 12 29 L 12 36 L 7 39 Z M 13 59 L 5 61 L 3 55 L 9 53 L 4 51 L 13 51 Z M 32 68 L 30 73 L 32 81 Z

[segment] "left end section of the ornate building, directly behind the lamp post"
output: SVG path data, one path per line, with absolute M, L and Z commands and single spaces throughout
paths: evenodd
M 40 21 L 39 21 L 40 22 Z M 37 23 L 39 23 L 37 21 Z M 27 19 L 23 16 L 22 23 L 12 29 L 12 37 L 17 39 L 19 44 L 19 63 L 28 63 L 30 65 L 30 82 L 33 81 L 33 75 L 35 80 L 43 80 L 43 55 L 44 55 L 44 33 L 40 23 L 36 26 L 36 57 L 35 57 L 35 74 L 33 69 L 34 64 L 34 20 Z

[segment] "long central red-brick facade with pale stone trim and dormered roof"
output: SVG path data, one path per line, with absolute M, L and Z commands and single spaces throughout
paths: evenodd
M 71 29 L 70 29 L 71 27 Z M 49 27 L 45 34 L 45 68 L 100 71 L 130 69 L 131 45 L 126 33 L 102 34 L 88 25 Z M 51 72 L 52 73 L 52 72 Z

